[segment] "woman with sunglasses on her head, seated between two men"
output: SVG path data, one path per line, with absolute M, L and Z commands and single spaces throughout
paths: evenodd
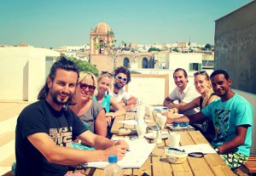
M 200 107 L 200 109 L 204 109 L 207 105 L 219 99 L 219 97 L 213 93 L 212 83 L 210 81 L 210 77 L 207 74 L 207 71 L 198 71 L 194 74 L 195 77 L 195 88 L 200 97 L 192 100 L 186 105 L 178 106 L 177 108 L 172 108 L 168 111 L 167 116 L 169 118 L 176 118 L 177 115 L 174 113 L 183 113 L 184 111 L 188 111 L 194 109 L 196 107 Z M 168 120 L 167 120 L 168 122 Z M 195 127 L 199 126 L 201 132 L 205 135 L 208 140 L 212 140 L 211 134 L 214 134 L 214 127 L 212 122 L 204 122 L 203 124 L 196 124 Z

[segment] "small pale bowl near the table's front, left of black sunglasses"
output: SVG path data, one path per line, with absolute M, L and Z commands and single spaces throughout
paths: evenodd
M 166 147 L 166 157 L 171 163 L 181 164 L 186 161 L 188 154 L 184 150 Z

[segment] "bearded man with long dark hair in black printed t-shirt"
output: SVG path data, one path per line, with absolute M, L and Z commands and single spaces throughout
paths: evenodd
M 65 58 L 52 65 L 38 102 L 28 105 L 17 119 L 15 156 L 17 176 L 65 175 L 67 165 L 108 161 L 109 155 L 125 155 L 129 146 L 87 130 L 79 117 L 67 107 L 79 79 L 77 66 Z M 80 139 L 96 150 L 70 148 Z

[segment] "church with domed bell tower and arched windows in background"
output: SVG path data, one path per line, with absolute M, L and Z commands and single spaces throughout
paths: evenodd
M 109 31 L 111 35 L 109 35 Z M 138 53 L 136 43 L 125 48 L 114 48 L 110 52 L 106 48 L 96 48 L 96 43 L 113 40 L 112 30 L 106 23 L 99 23 L 95 30 L 90 32 L 90 63 L 96 65 L 99 71 L 113 71 L 118 66 L 127 68 L 154 68 L 154 54 Z M 134 47 L 134 48 L 132 48 Z M 113 60 L 114 58 L 114 60 Z

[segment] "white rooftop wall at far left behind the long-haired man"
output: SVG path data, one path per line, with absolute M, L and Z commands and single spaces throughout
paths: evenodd
M 0 48 L 0 99 L 37 99 L 45 82 L 45 58 L 59 52 L 46 48 Z

